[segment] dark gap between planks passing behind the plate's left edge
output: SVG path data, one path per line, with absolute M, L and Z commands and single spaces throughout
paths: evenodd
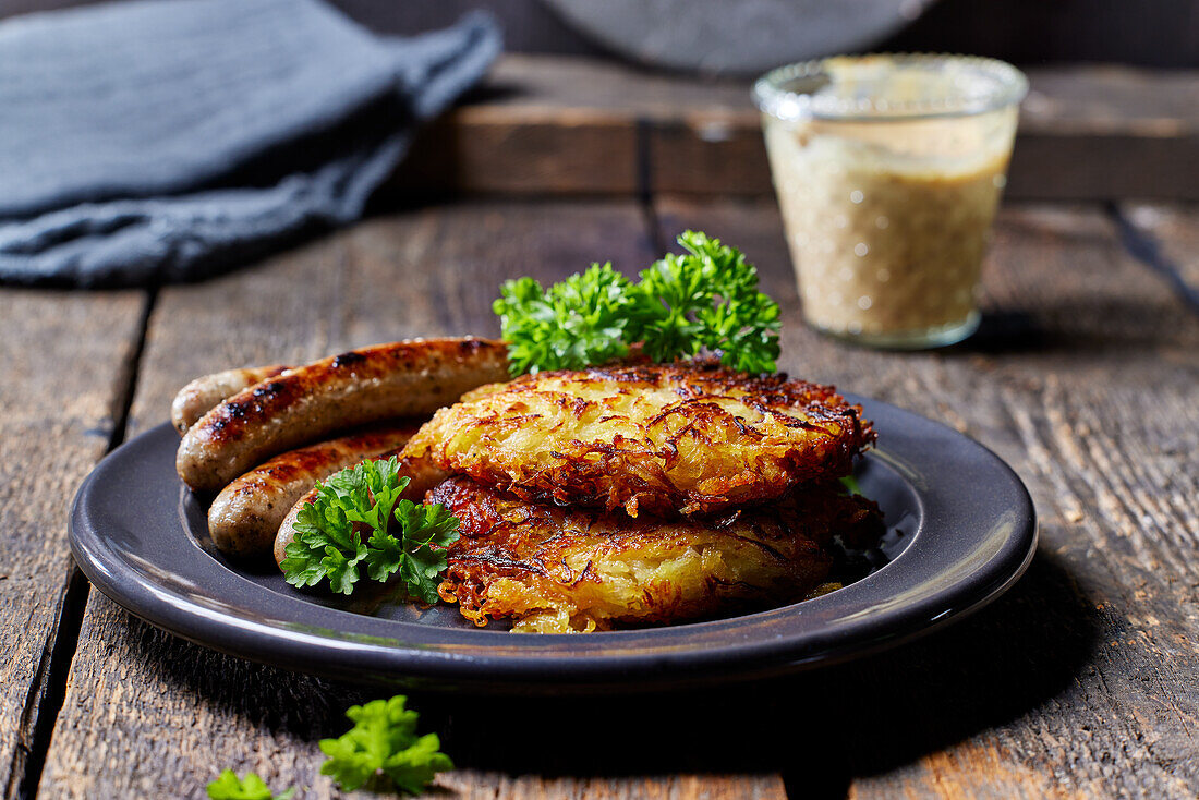
M 108 443 L 104 446 L 104 456 L 125 443 L 125 434 L 129 425 L 129 409 L 133 405 L 133 392 L 137 389 L 138 373 L 141 368 L 141 354 L 145 351 L 146 331 L 150 327 L 150 314 L 153 313 L 157 300 L 158 288 L 150 287 L 146 290 L 146 301 L 141 306 L 141 317 L 138 320 L 138 339 L 122 369 L 121 393 L 113 407 L 113 429 L 109 432 Z M 47 658 L 43 654 L 42 661 L 38 663 L 37 675 L 30 686 L 22 715 L 23 728 L 28 728 L 30 720 L 34 720 L 32 732 L 28 736 L 29 750 L 25 752 L 18 747 L 13 753 L 8 786 L 5 788 L 6 800 L 34 800 L 37 796 L 42 769 L 46 766 L 46 756 L 50 750 L 54 724 L 59 718 L 59 711 L 62 710 L 62 700 L 66 698 L 67 675 L 71 674 L 71 662 L 74 660 L 79 645 L 79 631 L 89 594 L 91 594 L 91 583 L 84 577 L 79 566 L 72 561 L 66 593 L 62 597 L 62 608 L 56 620 L 58 631 L 54 636 L 54 644 L 50 648 L 49 657 Z

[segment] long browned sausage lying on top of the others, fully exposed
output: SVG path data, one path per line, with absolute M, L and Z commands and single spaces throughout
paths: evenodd
M 408 339 L 296 367 L 229 397 L 183 435 L 175 458 L 192 489 L 215 492 L 271 456 L 335 431 L 426 416 L 507 378 L 504 343 Z

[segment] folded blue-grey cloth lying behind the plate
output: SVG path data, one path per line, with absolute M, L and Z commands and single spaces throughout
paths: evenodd
M 0 281 L 195 279 L 350 222 L 499 50 L 478 12 L 394 38 L 319 0 L 0 23 Z

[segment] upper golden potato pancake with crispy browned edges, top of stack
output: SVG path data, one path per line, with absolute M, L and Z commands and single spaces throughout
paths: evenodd
M 849 473 L 874 439 L 830 386 L 711 361 L 524 375 L 439 410 L 405 453 L 530 503 L 718 513 Z

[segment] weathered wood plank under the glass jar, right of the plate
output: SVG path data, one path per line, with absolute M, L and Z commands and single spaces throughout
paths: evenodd
M 788 309 L 785 367 L 975 437 L 1041 516 L 1037 560 L 995 606 L 773 698 L 821 720 L 788 784 L 820 765 L 854 798 L 1194 796 L 1199 320 L 1110 219 L 1006 210 L 981 333 L 885 354 L 802 326 L 770 204 L 668 200 L 659 215 L 669 235 L 743 242 Z

